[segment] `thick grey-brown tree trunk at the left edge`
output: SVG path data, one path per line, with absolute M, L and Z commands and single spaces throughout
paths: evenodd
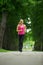
M 6 28 L 6 19 L 7 19 L 7 13 L 2 12 L 2 22 L 0 25 L 0 48 L 2 48 L 2 44 L 3 44 L 3 36 Z

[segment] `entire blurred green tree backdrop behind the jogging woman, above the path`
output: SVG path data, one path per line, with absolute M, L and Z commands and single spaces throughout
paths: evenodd
M 43 51 L 43 0 L 0 0 L 0 49 L 18 51 L 21 18 L 27 26 L 23 51 Z

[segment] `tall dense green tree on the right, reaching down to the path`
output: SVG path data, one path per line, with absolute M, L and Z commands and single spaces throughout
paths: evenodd
M 32 8 L 32 32 L 35 40 L 34 50 L 43 51 L 43 1 L 36 1 Z

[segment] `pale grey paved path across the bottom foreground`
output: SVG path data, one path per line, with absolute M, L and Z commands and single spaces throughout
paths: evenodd
M 42 52 L 0 53 L 0 65 L 43 65 Z

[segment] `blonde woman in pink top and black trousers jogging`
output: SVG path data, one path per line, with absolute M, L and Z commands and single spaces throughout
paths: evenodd
M 26 33 L 26 25 L 24 24 L 23 19 L 20 19 L 20 22 L 17 25 L 17 32 L 19 36 L 19 51 L 22 52 L 23 48 L 23 39 Z

